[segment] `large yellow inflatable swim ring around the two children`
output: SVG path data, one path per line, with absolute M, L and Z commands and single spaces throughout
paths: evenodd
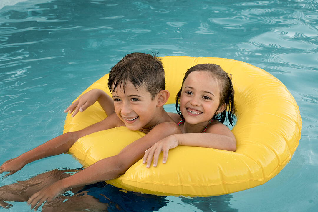
M 237 122 L 232 129 L 236 152 L 179 146 L 169 151 L 166 164 L 146 168 L 142 160 L 114 180 L 116 187 L 156 195 L 214 196 L 262 185 L 290 161 L 301 136 L 298 106 L 287 88 L 268 72 L 241 61 L 225 58 L 162 57 L 166 72 L 167 104 L 175 103 L 184 72 L 200 63 L 220 65 L 232 74 Z M 108 75 L 83 93 L 107 88 Z M 82 129 L 106 117 L 98 103 L 71 118 L 64 133 Z M 69 152 L 83 165 L 115 154 L 143 136 L 125 127 L 100 131 L 80 138 Z M 161 155 L 162 157 L 162 155 Z M 162 161 L 162 158 L 159 158 Z

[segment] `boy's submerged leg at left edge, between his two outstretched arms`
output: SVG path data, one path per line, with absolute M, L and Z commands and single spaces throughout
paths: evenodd
M 3 206 L 3 204 L 1 204 L 3 201 L 26 202 L 33 194 L 41 189 L 78 171 L 78 169 L 54 169 L 31 177 L 26 181 L 18 181 L 17 183 L 2 186 L 0 187 L 0 205 Z

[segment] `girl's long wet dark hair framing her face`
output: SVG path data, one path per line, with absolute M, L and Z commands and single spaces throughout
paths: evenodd
M 222 113 L 214 114 L 212 119 L 218 120 L 221 123 L 224 123 L 226 115 L 227 115 L 230 124 L 233 126 L 236 109 L 234 106 L 234 89 L 233 89 L 232 80 L 231 80 L 232 75 L 226 73 L 219 65 L 215 65 L 215 64 L 210 64 L 210 63 L 198 64 L 198 65 L 192 66 L 191 68 L 187 70 L 187 72 L 185 72 L 181 89 L 176 95 L 177 113 L 181 116 L 182 119 L 184 119 L 183 115 L 181 114 L 180 106 L 179 106 L 181 91 L 182 91 L 184 80 L 187 79 L 187 77 L 189 76 L 191 72 L 195 72 L 195 71 L 211 72 L 211 74 L 215 77 L 215 79 L 218 79 L 220 81 L 221 88 L 220 88 L 219 107 L 222 106 L 223 104 L 226 104 L 226 108 Z M 226 111 L 228 111 L 228 114 L 226 114 Z

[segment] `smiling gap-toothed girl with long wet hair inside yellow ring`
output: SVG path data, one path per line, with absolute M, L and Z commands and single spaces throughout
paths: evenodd
M 162 162 L 166 163 L 169 149 L 178 145 L 236 150 L 235 137 L 223 124 L 227 116 L 233 126 L 236 112 L 234 89 L 229 75 L 215 64 L 198 64 L 185 73 L 182 87 L 176 96 L 177 114 L 169 113 L 179 125 L 182 134 L 170 135 L 146 150 L 142 162 L 147 162 L 148 168 L 152 160 L 153 166 L 157 166 L 161 151 Z M 74 116 L 96 100 L 103 102 L 100 105 L 105 112 L 112 111 L 112 99 L 105 92 L 93 89 L 82 95 L 64 112 L 74 112 Z

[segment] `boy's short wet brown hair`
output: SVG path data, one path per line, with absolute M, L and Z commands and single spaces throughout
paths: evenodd
M 154 100 L 156 95 L 165 89 L 164 70 L 162 62 L 156 55 L 145 53 L 131 53 L 123 57 L 109 72 L 108 88 L 111 92 L 117 86 L 131 82 L 135 88 L 145 86 Z

